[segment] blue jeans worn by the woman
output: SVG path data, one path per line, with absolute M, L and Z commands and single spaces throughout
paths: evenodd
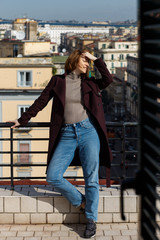
M 85 179 L 85 196 L 63 178 L 77 147 Z M 94 221 L 97 221 L 99 203 L 99 151 L 99 136 L 90 118 L 74 124 L 64 124 L 47 171 L 47 182 L 73 206 L 80 206 L 85 199 L 86 218 Z

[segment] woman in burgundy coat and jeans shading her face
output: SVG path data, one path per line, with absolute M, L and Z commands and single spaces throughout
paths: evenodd
M 89 61 L 93 61 L 102 75 L 101 79 L 89 78 Z M 65 63 L 65 74 L 53 76 L 40 97 L 14 122 L 12 128 L 26 125 L 49 100 L 54 97 L 50 141 L 47 160 L 47 182 L 52 184 L 73 206 L 84 209 L 88 219 L 84 237 L 96 234 L 98 215 L 99 164 L 110 168 L 111 154 L 106 136 L 101 89 L 106 88 L 112 77 L 101 58 L 87 51 L 75 50 Z M 68 166 L 83 168 L 85 196 L 63 178 Z M 100 156 L 100 158 L 99 158 Z M 74 160 L 73 160 L 74 159 Z M 73 160 L 73 161 L 72 161 Z

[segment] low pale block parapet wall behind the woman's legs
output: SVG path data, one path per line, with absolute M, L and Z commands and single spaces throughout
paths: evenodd
M 84 193 L 84 186 L 78 190 Z M 123 222 L 120 217 L 120 186 L 102 187 L 98 223 Z M 126 222 L 138 222 L 139 196 L 124 192 Z M 0 186 L 0 224 L 85 223 L 79 209 L 49 185 Z

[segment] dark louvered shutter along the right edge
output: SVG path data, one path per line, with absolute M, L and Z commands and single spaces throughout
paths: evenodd
M 140 2 L 140 170 L 141 234 L 158 240 L 160 227 L 160 1 Z

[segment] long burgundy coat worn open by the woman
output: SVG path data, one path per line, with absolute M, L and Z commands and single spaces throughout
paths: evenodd
M 100 90 L 106 88 L 113 81 L 113 79 L 106 67 L 106 64 L 101 58 L 96 59 L 94 61 L 94 64 L 101 73 L 102 78 L 95 79 L 94 77 L 91 77 L 82 79 L 82 97 L 84 107 L 95 119 L 96 127 L 100 137 L 100 165 L 106 166 L 107 169 L 110 169 L 110 162 L 112 156 L 108 146 L 107 130 Z M 63 124 L 66 91 L 65 77 L 66 73 L 63 75 L 53 76 L 46 88 L 42 91 L 39 98 L 37 98 L 35 102 L 29 107 L 27 112 L 23 113 L 22 116 L 18 119 L 21 125 L 26 125 L 30 118 L 35 117 L 37 113 L 47 105 L 49 100 L 54 97 L 50 122 L 50 138 L 47 167 L 58 143 L 59 132 Z M 72 165 L 81 165 L 79 157 L 75 157 L 73 159 Z

